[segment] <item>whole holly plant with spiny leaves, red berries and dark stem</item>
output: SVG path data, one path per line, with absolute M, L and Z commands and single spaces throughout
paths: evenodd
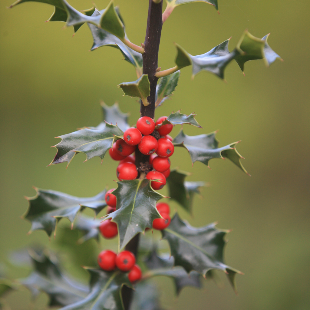
M 28 1 L 31 0 L 18 0 L 10 7 Z M 209 71 L 224 79 L 225 68 L 233 60 L 242 72 L 249 60 L 263 59 L 266 66 L 277 58 L 281 60 L 267 43 L 269 34 L 256 38 L 246 30 L 231 51 L 228 39 L 201 55 L 191 55 L 190 50 L 185 51 L 175 43 L 174 64 L 162 69 L 157 59 L 163 23 L 176 7 L 195 5 L 190 2 L 198 0 L 166 0 L 164 11 L 163 0 L 148 0 L 146 34 L 141 45 L 132 43 L 127 37 L 125 22 L 113 0 L 105 9 L 92 7 L 84 11 L 76 10 L 66 0 L 33 1 L 52 5 L 54 12 L 48 20 L 73 26 L 74 33 L 87 24 L 94 40 L 91 50 L 102 46 L 120 50 L 124 60 L 134 66 L 137 79 L 120 82 L 118 87 L 124 95 L 138 98 L 141 117 L 131 127 L 128 114 L 122 113 L 117 104 L 102 104 L 104 117 L 98 126 L 84 127 L 57 137 L 61 141 L 54 146 L 57 153 L 50 165 L 66 162 L 68 166 L 77 153 L 84 153 L 86 160 L 98 156 L 104 161 L 110 156 L 116 162 L 119 180 L 116 188 L 106 188 L 94 197 L 84 198 L 35 188 L 37 194 L 27 198 L 29 207 L 23 215 L 31 223 L 30 232 L 40 229 L 48 236 L 56 235 L 57 224 L 62 218 L 69 219 L 71 228 L 80 233 L 77 240 L 80 246 L 91 238 L 99 240 L 100 234 L 106 239 L 115 237 L 117 253 L 104 249 L 93 258 L 97 265 L 84 267 L 90 279 L 89 284 L 84 285 L 62 271 L 50 250 L 28 249 L 26 256 L 33 265 L 32 273 L 14 283 L 0 279 L 0 294 L 23 285 L 29 288 L 33 297 L 40 291 L 45 292 L 49 296 L 49 306 L 62 310 L 155 310 L 162 306 L 156 288 L 149 283 L 150 278 L 172 278 L 175 292 L 179 294 L 184 286 L 201 287 L 204 279 L 215 277 L 215 270 L 226 273 L 236 290 L 235 276 L 241 272 L 226 265 L 223 259 L 228 230 L 219 229 L 214 223 L 192 227 L 177 212 L 172 216 L 166 201 L 167 198 L 175 200 L 191 213 L 195 194 L 205 186 L 201 181 L 187 181 L 188 172 L 170 170 L 170 160 L 174 153 L 178 156 L 178 148 L 188 150 L 188 160 L 193 164 L 199 161 L 208 166 L 213 158 L 227 158 L 248 174 L 241 164 L 243 157 L 237 152 L 237 142 L 219 146 L 216 132 L 201 133 L 202 127 L 193 113 L 183 114 L 179 110 L 157 120 L 154 113 L 155 108 L 171 97 L 178 85 L 180 70 L 186 66 L 192 66 L 192 77 L 201 71 Z M 200 1 L 218 10 L 217 0 Z M 181 108 L 187 111 L 189 107 Z M 179 133 L 175 138 L 170 137 L 172 128 L 178 125 L 182 126 Z M 185 133 L 190 125 L 197 127 L 198 135 Z M 168 186 L 169 197 L 160 193 L 164 186 Z M 86 208 L 94 211 L 95 219 L 82 214 Z M 96 218 L 102 210 L 106 214 Z M 163 253 L 154 243 L 151 247 L 143 246 L 140 237 L 148 230 L 161 231 L 170 253 Z M 92 252 L 88 254 L 92 255 Z

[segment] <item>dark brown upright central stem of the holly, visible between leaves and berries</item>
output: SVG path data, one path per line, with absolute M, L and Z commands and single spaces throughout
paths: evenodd
M 150 95 L 148 96 L 148 102 L 150 103 L 145 107 L 141 102 L 140 114 L 141 116 L 148 116 L 154 119 L 155 117 L 155 94 L 158 78 L 155 76 L 156 69 L 158 67 L 158 50 L 160 36 L 162 33 L 162 1 L 160 3 L 154 3 L 153 0 L 149 0 L 148 3 L 148 22 L 146 27 L 145 41 L 144 41 L 144 53 L 143 57 L 143 73 L 148 75 L 150 81 Z M 148 162 L 149 156 L 140 153 L 139 149 L 135 151 L 135 164 L 140 167 L 144 163 Z M 138 253 L 139 234 L 136 235 L 126 245 L 126 250 L 135 254 Z M 122 299 L 125 310 L 130 309 L 133 290 L 127 286 L 122 288 Z

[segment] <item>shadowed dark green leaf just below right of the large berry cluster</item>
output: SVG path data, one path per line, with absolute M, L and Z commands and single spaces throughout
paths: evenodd
M 187 212 L 192 213 L 195 193 L 200 193 L 199 188 L 206 186 L 205 182 L 186 182 L 185 178 L 191 175 L 181 170 L 171 170 L 167 178 L 169 197 L 177 201 Z

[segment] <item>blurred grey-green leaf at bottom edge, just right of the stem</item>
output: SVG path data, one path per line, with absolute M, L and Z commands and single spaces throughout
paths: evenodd
M 130 310 L 162 310 L 157 288 L 146 283 L 135 286 Z

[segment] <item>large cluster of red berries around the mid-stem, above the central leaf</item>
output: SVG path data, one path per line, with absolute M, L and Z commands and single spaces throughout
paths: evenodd
M 166 178 L 170 175 L 170 159 L 168 157 L 174 152 L 172 138 L 168 135 L 173 125 L 161 126 L 166 118 L 166 116 L 162 116 L 154 122 L 150 117 L 140 117 L 136 124 L 137 128 L 128 128 L 124 132 L 124 139 L 117 140 L 109 149 L 112 159 L 120 161 L 116 169 L 119 180 L 133 180 L 138 177 L 135 156 L 131 155 L 138 146 L 142 154 L 150 155 L 149 164 L 153 170 L 147 173 L 146 179 L 156 180 L 151 182 L 152 188 L 157 190 L 165 186 Z M 155 126 L 158 126 L 157 130 L 155 130 Z

